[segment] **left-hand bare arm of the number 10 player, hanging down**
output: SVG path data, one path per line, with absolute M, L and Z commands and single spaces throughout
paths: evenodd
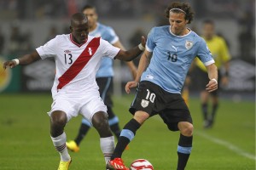
M 137 69 L 137 77 L 135 78 L 134 81 L 127 82 L 125 85 L 125 91 L 127 94 L 130 94 L 130 89 L 137 87 L 138 82 L 140 81 L 140 78 L 143 74 L 143 71 L 146 70 L 150 63 L 150 59 L 152 58 L 152 53 L 148 52 L 146 49 L 140 59 L 138 69 Z

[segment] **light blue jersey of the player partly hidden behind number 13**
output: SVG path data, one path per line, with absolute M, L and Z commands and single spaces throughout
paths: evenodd
M 119 40 L 119 37 L 113 31 L 110 26 L 105 26 L 97 23 L 96 30 L 89 32 L 90 36 L 102 37 L 103 40 L 108 41 L 113 44 Z M 108 57 L 103 57 L 99 70 L 96 73 L 96 78 L 98 77 L 113 77 L 113 59 Z

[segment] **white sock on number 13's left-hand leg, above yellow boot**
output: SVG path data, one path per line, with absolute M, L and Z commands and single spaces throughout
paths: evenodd
M 70 156 L 67 152 L 67 136 L 66 133 L 62 133 L 60 136 L 57 136 L 55 138 L 51 137 L 52 142 L 55 146 L 55 149 L 60 153 L 61 161 L 70 161 Z

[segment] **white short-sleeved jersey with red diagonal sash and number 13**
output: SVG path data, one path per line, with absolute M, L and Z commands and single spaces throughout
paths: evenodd
M 72 34 L 67 34 L 56 36 L 36 50 L 42 59 L 55 57 L 54 98 L 58 92 L 84 94 L 98 89 L 96 71 L 102 57 L 113 59 L 120 49 L 100 37 L 88 36 L 87 42 L 78 44 Z

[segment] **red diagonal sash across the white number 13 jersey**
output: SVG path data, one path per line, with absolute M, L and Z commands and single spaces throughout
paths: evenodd
M 101 37 L 94 37 L 86 46 L 84 51 L 79 55 L 67 71 L 59 78 L 57 89 L 63 88 L 76 77 L 84 66 L 88 63 L 91 57 L 96 53 L 97 48 L 100 46 Z

